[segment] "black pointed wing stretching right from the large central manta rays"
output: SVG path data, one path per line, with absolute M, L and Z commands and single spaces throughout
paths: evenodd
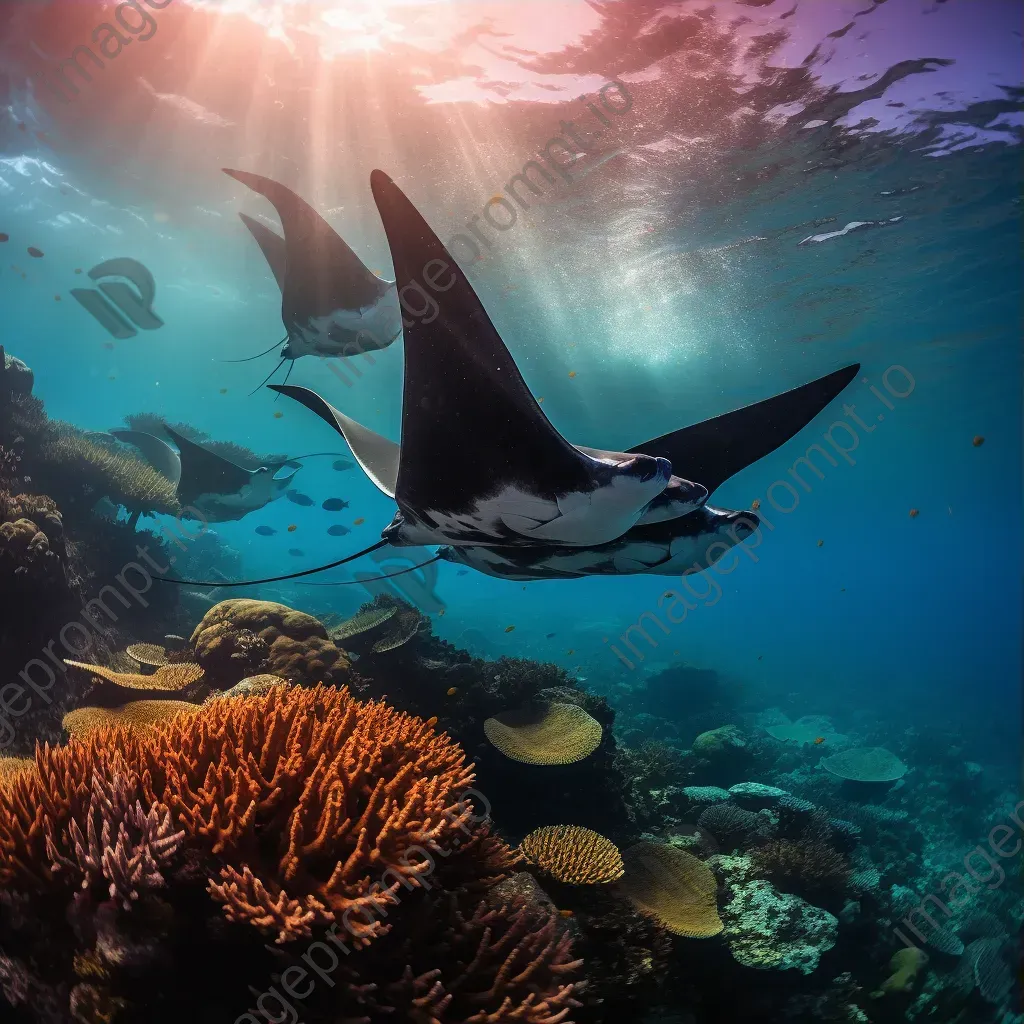
M 855 362 L 792 391 L 663 434 L 630 452 L 668 459 L 673 473 L 698 480 L 711 494 L 803 430 L 859 372 L 860 364 Z

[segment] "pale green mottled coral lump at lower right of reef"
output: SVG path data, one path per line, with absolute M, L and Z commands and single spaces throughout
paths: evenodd
M 839 922 L 799 896 L 777 893 L 770 882 L 733 884 L 722 909 L 725 938 L 744 967 L 810 974 L 836 944 Z

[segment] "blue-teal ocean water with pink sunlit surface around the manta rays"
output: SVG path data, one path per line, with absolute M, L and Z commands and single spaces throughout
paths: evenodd
M 371 171 L 384 171 L 447 245 L 543 412 L 573 444 L 626 451 L 860 365 L 795 437 L 714 492 L 716 507 L 757 508 L 762 520 L 707 571 L 523 582 L 442 560 L 392 583 L 367 581 L 429 559 L 436 544 L 424 544 L 219 593 L 205 583 L 155 584 L 160 601 L 117 635 L 114 646 L 187 637 L 215 601 L 239 597 L 337 622 L 385 593 L 416 605 L 454 648 L 557 666 L 607 699 L 620 749 L 655 737 L 688 751 L 702 726 L 727 724 L 764 744 L 764 725 L 780 710 L 794 720 L 828 716 L 854 745 L 886 746 L 910 769 L 895 792 L 869 801 L 904 815 L 869 851 L 883 894 L 848 893 L 825 908 L 840 938 L 817 972 L 748 966 L 739 982 L 726 981 L 733 974 L 712 957 L 707 979 L 687 977 L 660 1004 L 631 989 L 623 1006 L 606 1000 L 564 1018 L 439 1009 L 386 1019 L 1020 1019 L 1009 990 L 990 999 L 973 983 L 957 989 L 956 965 L 934 950 L 932 973 L 915 987 L 871 996 L 900 946 L 892 887 L 919 899 L 938 891 L 944 867 L 954 870 L 1011 820 L 1019 800 L 1019 4 L 11 0 L 0 26 L 2 343 L 31 367 L 46 415 L 105 432 L 150 414 L 261 456 L 336 453 L 302 461 L 291 484 L 301 504 L 282 496 L 211 522 L 184 560 L 191 574 L 178 579 L 312 568 L 373 545 L 395 510 L 342 437 L 259 386 L 286 328 L 281 291 L 239 214 L 275 230 L 281 221 L 222 168 L 287 185 L 390 281 L 370 186 Z M 84 74 L 68 63 L 76 53 Z M 510 180 L 529 162 L 535 186 L 516 193 Z M 98 297 L 89 270 L 113 259 L 136 261 L 154 282 L 159 321 L 139 314 L 121 332 L 129 337 L 115 337 L 73 294 Z M 109 298 L 95 301 L 110 309 Z M 404 440 L 401 340 L 369 359 L 304 355 L 271 382 L 286 372 L 290 384 Z M 445 379 L 440 393 L 457 409 L 460 380 Z M 469 434 L 488 427 L 465 424 Z M 475 450 L 467 457 L 461 444 L 454 434 L 430 454 L 437 475 L 479 472 Z M 338 459 L 347 460 L 341 469 Z M 504 453 L 493 460 L 501 465 Z M 104 497 L 86 493 L 90 502 Z M 347 505 L 325 509 L 329 499 Z M 89 514 L 126 522 L 132 510 L 116 506 Z M 84 519 L 77 512 L 74 521 Z M 85 552 L 88 531 L 77 538 L 66 520 L 89 561 L 87 597 L 123 559 L 98 542 Z M 169 521 L 142 509 L 137 543 Z M 338 526 L 348 531 L 329 534 Z M 308 586 L 325 583 L 344 585 Z M 166 594 L 175 596 L 164 596 L 172 587 Z M 5 607 L 19 594 L 11 584 Z M 5 636 L 14 678 L 26 657 Z M 690 714 L 693 669 L 717 674 L 731 718 L 695 706 Z M 644 702 L 648 681 L 667 670 L 679 676 L 675 695 Z M 384 672 L 368 695 L 393 697 L 400 685 Z M 85 702 L 79 695 L 68 709 Z M 478 757 L 443 707 L 429 703 L 410 707 L 440 716 Z M 41 739 L 59 735 L 39 728 Z M 34 739 L 23 729 L 13 753 L 29 756 Z M 759 753 L 753 778 L 730 768 L 677 781 L 758 781 L 827 804 L 817 783 L 801 791 L 800 773 L 813 764 L 793 760 L 821 752 L 795 750 L 790 761 Z M 964 765 L 980 781 L 971 774 L 968 786 Z M 496 792 L 514 790 L 523 767 L 509 761 Z M 572 779 L 582 786 L 572 800 L 588 803 L 596 791 L 585 776 Z M 540 825 L 597 827 L 532 820 L 521 809 L 503 827 L 501 810 L 496 827 L 513 844 Z M 695 817 L 677 804 L 621 825 L 630 841 L 666 842 L 692 831 Z M 1019 898 L 1009 893 L 1017 859 L 1007 856 L 1005 885 L 989 885 L 1004 901 L 997 912 L 988 907 L 1004 937 L 1019 933 Z M 731 883 L 719 883 L 725 913 Z M 586 933 L 586 909 L 569 912 Z M 579 941 L 585 961 L 595 948 L 603 955 L 594 935 Z M 696 942 L 672 941 L 676 957 Z M 19 955 L 3 939 L 0 949 Z M 1017 953 L 1006 949 L 1016 974 Z M 844 958 L 844 950 L 853 951 Z M 694 955 L 711 957 L 705 947 Z M 735 957 L 725 958 L 734 969 Z M 16 1016 L 4 1019 L 157 1012 L 137 993 L 113 1017 L 102 1016 L 109 1008 L 76 1010 L 51 978 L 48 991 L 63 995 L 47 1017 L 4 974 L 8 963 L 0 957 L 4 1013 Z M 844 973 L 853 981 L 841 981 Z M 850 994 L 854 983 L 859 995 Z M 736 984 L 755 994 L 735 995 Z M 247 1010 L 242 993 L 236 1017 Z M 302 1020 L 349 1020 L 305 1012 Z M 367 1014 L 351 1019 L 385 1019 Z

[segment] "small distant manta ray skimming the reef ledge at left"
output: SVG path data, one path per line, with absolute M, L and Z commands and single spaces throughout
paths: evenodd
M 268 462 L 250 470 L 197 444 L 171 427 L 165 425 L 164 430 L 177 444 L 177 452 L 163 438 L 141 430 L 116 429 L 110 433 L 119 441 L 138 449 L 145 461 L 175 485 L 178 501 L 201 512 L 212 522 L 241 519 L 280 498 L 302 468 L 295 465 L 294 472 L 278 477 L 276 474 L 286 466 L 292 466 L 299 459 L 311 459 L 314 455 L 338 454 L 317 452 Z

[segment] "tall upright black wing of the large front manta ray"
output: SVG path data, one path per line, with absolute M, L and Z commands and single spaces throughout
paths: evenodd
M 399 508 L 470 512 L 510 483 L 546 498 L 593 490 L 592 460 L 541 412 L 451 253 L 386 174 L 370 183 L 399 295 L 410 289 L 437 306 L 404 322 Z

